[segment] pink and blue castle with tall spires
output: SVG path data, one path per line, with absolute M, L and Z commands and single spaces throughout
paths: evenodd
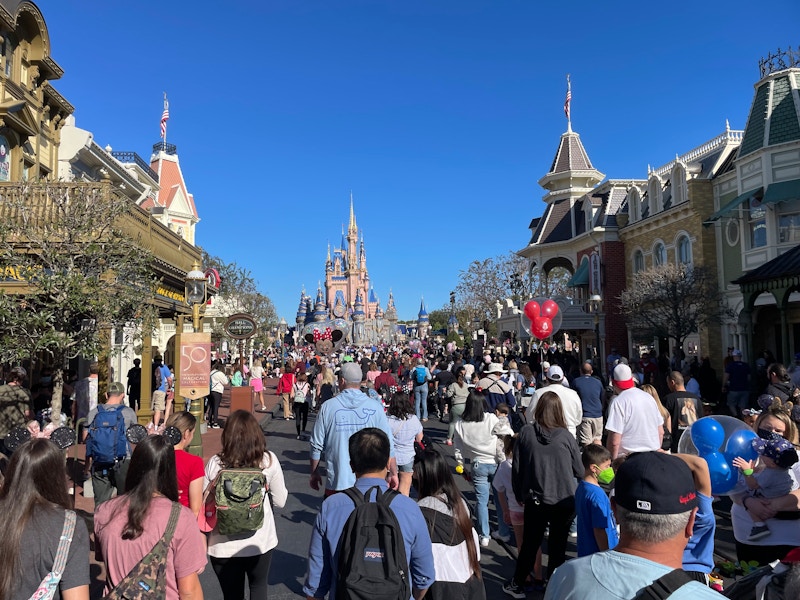
M 300 294 L 297 310 L 297 331 L 310 322 L 329 319 L 344 320 L 349 328 L 347 341 L 356 345 L 377 344 L 396 340 L 397 309 L 389 292 L 386 310 L 381 308 L 367 270 L 364 234 L 359 232 L 350 195 L 350 220 L 347 233 L 342 231 L 339 248 L 328 244 L 325 260 L 325 290 L 317 287 L 316 298 Z

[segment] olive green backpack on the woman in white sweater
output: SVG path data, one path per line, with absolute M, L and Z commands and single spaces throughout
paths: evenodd
M 222 469 L 217 478 L 217 530 L 222 535 L 256 531 L 264 524 L 267 478 L 261 469 Z

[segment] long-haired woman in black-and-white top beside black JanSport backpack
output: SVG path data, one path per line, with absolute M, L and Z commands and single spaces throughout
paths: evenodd
M 436 450 L 423 450 L 414 464 L 414 482 L 434 548 L 436 581 L 426 598 L 484 600 L 478 534 L 447 461 Z

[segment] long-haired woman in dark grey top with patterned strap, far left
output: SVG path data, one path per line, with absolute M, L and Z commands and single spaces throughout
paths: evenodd
M 62 547 L 65 564 L 54 598 L 89 600 L 89 532 L 69 507 L 62 451 L 43 438 L 21 444 L 0 489 L 0 598 L 33 596 L 55 569 L 66 525 L 74 532 Z

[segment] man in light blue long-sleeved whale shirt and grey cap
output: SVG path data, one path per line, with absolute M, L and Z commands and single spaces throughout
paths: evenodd
M 350 436 L 365 427 L 377 427 L 386 432 L 391 443 L 389 486 L 397 489 L 397 462 L 394 456 L 392 430 L 383 407 L 361 391 L 361 367 L 354 362 L 342 365 L 339 372 L 339 394 L 326 400 L 317 415 L 311 434 L 311 478 L 309 485 L 318 490 L 322 483 L 319 461 L 325 453 L 327 481 L 325 495 L 355 485 L 356 476 L 350 468 Z

